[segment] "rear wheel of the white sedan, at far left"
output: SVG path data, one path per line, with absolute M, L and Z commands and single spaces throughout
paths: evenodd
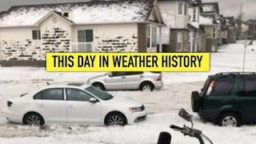
M 37 113 L 29 113 L 24 116 L 23 120 L 25 125 L 30 126 L 42 126 L 44 121 L 40 114 Z

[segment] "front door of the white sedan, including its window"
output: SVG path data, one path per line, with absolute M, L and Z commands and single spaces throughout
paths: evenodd
M 90 94 L 83 90 L 66 89 L 66 111 L 69 123 L 100 124 L 102 112 L 100 102 L 91 103 Z

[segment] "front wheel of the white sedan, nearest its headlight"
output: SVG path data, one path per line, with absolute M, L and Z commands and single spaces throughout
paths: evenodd
M 106 117 L 106 126 L 126 126 L 126 118 L 119 113 L 109 114 Z

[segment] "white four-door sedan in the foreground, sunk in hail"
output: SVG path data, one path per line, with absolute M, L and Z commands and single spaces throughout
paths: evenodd
M 26 125 L 47 123 L 125 126 L 146 119 L 142 102 L 114 97 L 94 86 L 46 86 L 7 101 L 6 118 Z

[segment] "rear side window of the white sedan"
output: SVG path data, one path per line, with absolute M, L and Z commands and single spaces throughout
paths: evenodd
M 42 99 L 43 100 L 64 100 L 63 89 L 58 88 L 58 89 L 43 90 Z

